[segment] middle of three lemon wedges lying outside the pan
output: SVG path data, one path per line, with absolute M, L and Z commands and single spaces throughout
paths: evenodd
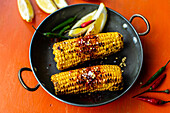
M 35 1 L 39 8 L 46 13 L 51 14 L 58 9 L 53 0 L 35 0 Z

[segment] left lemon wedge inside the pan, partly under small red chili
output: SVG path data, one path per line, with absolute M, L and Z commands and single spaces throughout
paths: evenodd
M 92 20 L 92 18 L 95 15 L 96 12 L 97 12 L 97 10 L 94 10 L 93 12 L 91 12 L 91 13 L 85 15 L 84 17 L 82 17 L 71 29 L 74 29 L 74 28 L 80 26 L 84 22 Z M 88 25 L 85 28 L 77 28 L 77 29 L 74 29 L 74 30 L 70 30 L 68 35 L 71 36 L 71 37 L 80 36 L 81 34 L 84 34 L 89 27 L 90 27 L 90 25 Z

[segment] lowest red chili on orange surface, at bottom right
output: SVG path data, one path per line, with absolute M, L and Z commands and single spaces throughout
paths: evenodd
M 151 98 L 151 97 L 144 97 L 144 96 L 139 96 L 137 99 L 148 102 L 150 104 L 154 104 L 154 105 L 162 105 L 162 104 L 170 102 L 170 101 L 163 101 L 163 100 L 160 100 L 160 99 Z

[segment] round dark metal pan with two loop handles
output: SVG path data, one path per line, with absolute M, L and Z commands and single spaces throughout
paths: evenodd
M 49 15 L 37 28 L 37 31 L 48 32 L 52 28 L 54 28 L 57 24 L 63 22 L 64 20 L 73 17 L 79 11 L 78 18 L 90 13 L 91 11 L 98 8 L 98 5 L 95 4 L 76 4 L 70 5 L 63 9 L 60 9 L 53 14 Z M 83 10 L 82 10 L 83 9 Z M 52 82 L 50 81 L 50 77 L 52 74 L 60 73 L 56 68 L 56 63 L 52 54 L 52 45 L 53 43 L 50 39 L 43 37 L 37 31 L 35 31 L 32 41 L 30 44 L 29 58 L 30 58 L 30 68 L 21 68 L 18 72 L 19 80 L 22 86 L 28 91 L 35 91 L 41 85 L 41 87 L 48 92 L 52 97 L 65 102 L 67 104 L 76 105 L 76 106 L 99 106 L 103 104 L 107 104 L 112 102 L 123 94 L 125 94 L 134 84 L 136 79 L 139 76 L 142 62 L 143 62 L 143 49 L 139 36 L 146 35 L 149 30 L 148 21 L 139 14 L 133 15 L 128 21 L 121 14 L 117 13 L 114 10 L 107 8 L 108 11 L 108 20 L 105 25 L 103 32 L 114 32 L 117 31 L 124 36 L 124 49 L 114 55 L 111 55 L 104 60 L 95 60 L 86 62 L 85 64 L 79 65 L 77 67 L 71 68 L 76 69 L 79 67 L 86 67 L 90 65 L 97 65 L 101 61 L 104 64 L 115 64 L 115 57 L 127 57 L 126 68 L 124 68 L 124 89 L 122 91 L 117 92 L 97 92 L 92 94 L 79 94 L 79 95 L 63 95 L 56 96 L 54 93 L 54 87 Z M 147 30 L 144 33 L 137 33 L 134 27 L 131 25 L 131 21 L 135 17 L 142 18 L 146 25 Z M 69 69 L 68 69 L 69 70 Z M 35 78 L 38 81 L 38 84 L 35 88 L 28 87 L 23 79 L 22 79 L 22 71 L 32 71 L 34 73 Z

